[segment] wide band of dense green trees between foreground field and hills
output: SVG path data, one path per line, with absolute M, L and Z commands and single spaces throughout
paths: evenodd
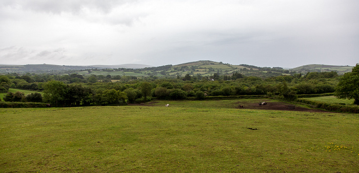
M 353 72 L 357 68 L 354 67 Z M 151 77 L 145 79 L 121 77 L 120 79 L 123 78 L 125 80 L 111 82 L 112 77 L 109 75 L 93 75 L 88 78 L 76 73 L 63 76 L 6 75 L 0 76 L 0 90 L 6 92 L 11 87 L 41 91 L 44 93 L 43 102 L 57 106 L 126 104 L 146 102 L 153 98 L 182 100 L 187 97 L 203 99 L 205 96 L 231 95 L 268 95 L 293 100 L 297 94 L 334 92 L 335 89 L 340 88 L 337 84 L 341 84 L 341 79 L 346 79 L 346 76 L 338 76 L 332 71 L 260 78 L 244 76 L 236 71 L 228 76 L 213 73 L 210 77 L 186 75 L 183 78 L 169 79 Z M 340 94 L 338 96 L 344 98 Z M 7 93 L 5 96 L 6 101 L 17 102 L 32 102 L 30 99 L 32 97 L 35 96 L 20 93 Z

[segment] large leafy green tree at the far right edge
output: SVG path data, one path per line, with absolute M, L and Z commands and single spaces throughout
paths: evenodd
M 345 73 L 335 88 L 335 96 L 342 99 L 354 99 L 354 104 L 359 105 L 359 64 Z

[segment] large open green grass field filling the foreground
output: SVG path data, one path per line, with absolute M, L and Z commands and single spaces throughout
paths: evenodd
M 238 101 L 0 109 L 0 171 L 359 171 L 357 114 L 234 109 Z

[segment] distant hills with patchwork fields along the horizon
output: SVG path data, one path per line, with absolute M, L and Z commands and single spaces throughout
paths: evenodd
M 91 66 L 67 66 L 50 64 L 28 64 L 28 65 L 0 65 L 0 73 L 78 73 L 84 76 L 111 75 L 111 76 L 135 76 L 135 77 L 184 77 L 187 74 L 197 77 L 211 77 L 214 74 L 231 76 L 233 73 L 241 73 L 245 76 L 275 77 L 281 75 L 292 75 L 294 73 L 336 71 L 338 75 L 350 72 L 353 66 L 335 65 L 304 65 L 292 69 L 282 67 L 257 67 L 253 65 L 232 65 L 214 61 L 194 61 L 177 65 L 164 65 L 151 67 L 142 64 L 123 65 L 91 65 Z

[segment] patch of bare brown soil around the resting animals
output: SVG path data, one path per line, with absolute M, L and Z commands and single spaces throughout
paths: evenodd
M 287 104 L 283 102 L 267 102 L 267 105 L 259 105 L 258 103 L 241 103 L 237 102 L 238 109 L 262 109 L 262 110 L 282 110 L 282 111 L 304 111 L 304 112 L 328 112 L 320 109 L 311 109 Z M 240 107 L 243 106 L 242 107 Z

